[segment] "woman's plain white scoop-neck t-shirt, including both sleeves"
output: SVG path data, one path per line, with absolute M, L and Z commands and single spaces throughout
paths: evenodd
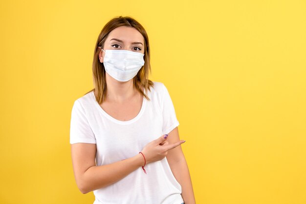
M 154 82 L 145 92 L 138 115 L 130 121 L 118 121 L 95 100 L 93 91 L 74 102 L 71 113 L 70 143 L 95 143 L 96 165 L 133 157 L 143 147 L 168 134 L 178 121 L 169 92 Z M 167 158 L 140 167 L 122 180 L 94 190 L 94 204 L 181 204 L 181 185 L 176 181 Z

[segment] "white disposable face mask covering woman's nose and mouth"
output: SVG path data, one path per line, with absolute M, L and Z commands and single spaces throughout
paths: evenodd
M 144 54 L 139 52 L 128 50 L 103 50 L 103 52 L 105 52 L 103 60 L 105 71 L 120 82 L 131 80 L 145 64 Z

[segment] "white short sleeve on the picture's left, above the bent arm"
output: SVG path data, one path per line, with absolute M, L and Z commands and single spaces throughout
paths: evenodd
M 96 143 L 85 109 L 78 100 L 73 104 L 70 121 L 70 144 L 74 143 Z

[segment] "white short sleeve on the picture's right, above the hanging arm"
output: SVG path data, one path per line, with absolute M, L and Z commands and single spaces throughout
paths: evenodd
M 171 100 L 170 94 L 163 84 L 163 97 L 162 97 L 162 115 L 163 115 L 163 127 L 162 134 L 168 134 L 175 127 L 179 125 L 176 119 L 175 108 Z

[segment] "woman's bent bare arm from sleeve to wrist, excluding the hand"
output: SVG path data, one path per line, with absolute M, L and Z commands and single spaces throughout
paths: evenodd
M 74 177 L 82 193 L 113 184 L 143 165 L 141 155 L 108 165 L 96 166 L 96 144 L 71 144 Z

